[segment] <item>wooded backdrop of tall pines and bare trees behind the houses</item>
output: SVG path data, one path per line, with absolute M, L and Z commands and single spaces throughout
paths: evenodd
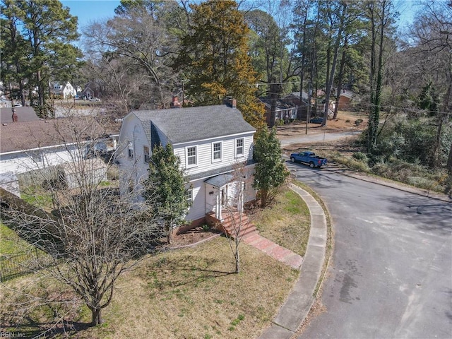
M 117 116 L 169 107 L 174 94 L 183 105 L 232 96 L 258 129 L 256 97 L 275 114 L 276 100 L 301 88 L 309 109 L 325 107 L 324 126 L 328 102 L 337 117 L 346 89 L 350 109 L 369 114 L 364 147 L 376 162 L 403 157 L 452 175 L 452 1 L 420 1 L 403 29 L 396 4 L 123 0 L 79 36 L 59 1 L 2 0 L 1 81 L 42 117 L 51 112 L 47 84 L 59 80 L 95 86 Z

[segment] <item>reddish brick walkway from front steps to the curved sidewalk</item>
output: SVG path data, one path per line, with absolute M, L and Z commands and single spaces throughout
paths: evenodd
M 262 237 L 258 232 L 253 232 L 246 235 L 243 238 L 245 244 L 256 247 L 256 249 L 263 251 L 263 253 L 268 254 L 272 258 L 275 258 L 286 265 L 299 270 L 302 266 L 303 257 L 296 254 L 290 249 L 285 249 L 283 246 L 275 244 L 274 242 Z

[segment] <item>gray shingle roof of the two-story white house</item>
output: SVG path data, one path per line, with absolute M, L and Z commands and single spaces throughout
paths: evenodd
M 133 111 L 150 140 L 150 121 L 174 144 L 256 131 L 238 109 L 226 105 Z

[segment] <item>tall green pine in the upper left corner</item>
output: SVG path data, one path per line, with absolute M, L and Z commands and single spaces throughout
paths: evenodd
M 16 29 L 4 30 L 2 20 L 2 39 L 17 42 L 11 43 L 9 48 L 19 70 L 18 86 L 20 88 L 20 81 L 26 76 L 30 88 L 37 87 L 37 109 L 41 117 L 47 117 L 49 81 L 69 81 L 82 57 L 81 50 L 73 45 L 78 39 L 77 17 L 71 16 L 69 8 L 54 0 L 4 0 L 1 10 L 1 18 L 10 28 L 11 24 L 16 26 Z M 11 36 L 6 37 L 8 34 Z M 26 49 L 22 43 L 25 41 L 28 42 Z M 23 100 L 23 93 L 18 96 Z

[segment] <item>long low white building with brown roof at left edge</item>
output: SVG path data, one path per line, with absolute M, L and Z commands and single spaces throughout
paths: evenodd
M 11 108 L 1 108 L 0 120 L 0 182 L 8 182 L 14 190 L 16 186 L 11 178 L 15 176 L 82 161 L 88 156 L 86 152 L 81 153 L 81 146 L 85 147 L 90 141 L 74 140 L 73 126 L 80 130 L 85 126 L 105 130 L 102 126 L 96 127 L 98 124 L 93 117 L 72 119 L 71 123 L 68 118 L 40 119 L 32 107 L 14 107 L 14 112 Z M 100 140 L 107 143 L 110 138 Z

